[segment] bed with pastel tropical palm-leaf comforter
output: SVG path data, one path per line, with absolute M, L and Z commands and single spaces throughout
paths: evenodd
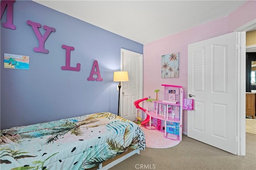
M 109 112 L 14 127 L 0 133 L 2 170 L 108 169 L 146 148 L 144 132 L 138 125 Z M 102 166 L 127 150 L 132 152 L 125 158 Z

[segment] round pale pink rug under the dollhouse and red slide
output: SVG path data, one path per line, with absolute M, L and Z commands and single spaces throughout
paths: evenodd
M 176 135 L 167 133 L 167 138 L 164 137 L 164 132 L 156 130 L 155 127 L 149 129 L 148 125 L 139 125 L 143 130 L 146 138 L 147 148 L 170 148 L 180 143 Z

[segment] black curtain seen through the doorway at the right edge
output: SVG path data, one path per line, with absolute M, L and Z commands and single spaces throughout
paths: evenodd
M 255 52 L 246 53 L 246 92 L 256 90 L 256 85 L 251 85 L 252 61 L 256 61 Z

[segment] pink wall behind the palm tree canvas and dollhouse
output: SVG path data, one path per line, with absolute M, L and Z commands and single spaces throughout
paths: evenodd
M 164 98 L 161 84 L 180 85 L 187 97 L 188 87 L 188 44 L 233 32 L 236 28 L 256 18 L 256 1 L 248 1 L 230 15 L 206 24 L 185 30 L 144 45 L 143 52 L 143 97 L 156 98 L 154 90 L 159 89 L 158 99 Z M 161 78 L 161 55 L 179 52 L 178 78 Z M 183 110 L 183 132 L 187 132 L 187 111 Z

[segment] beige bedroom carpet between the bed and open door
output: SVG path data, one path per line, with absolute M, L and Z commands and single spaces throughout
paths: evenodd
M 146 148 L 110 170 L 256 170 L 256 134 L 246 133 L 246 156 L 236 156 L 182 136 L 165 149 Z

